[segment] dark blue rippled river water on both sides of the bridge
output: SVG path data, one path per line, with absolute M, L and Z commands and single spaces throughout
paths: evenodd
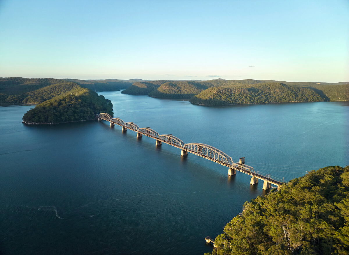
M 114 117 L 288 181 L 349 164 L 349 104 L 205 107 L 101 92 Z M 263 183 L 106 121 L 27 126 L 0 107 L 0 254 L 203 254 Z

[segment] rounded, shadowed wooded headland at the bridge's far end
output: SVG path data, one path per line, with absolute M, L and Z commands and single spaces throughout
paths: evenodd
M 104 96 L 79 85 L 74 95 L 64 93 L 46 100 L 32 108 L 23 116 L 24 123 L 60 123 L 95 119 L 96 113 L 113 115 L 112 103 Z

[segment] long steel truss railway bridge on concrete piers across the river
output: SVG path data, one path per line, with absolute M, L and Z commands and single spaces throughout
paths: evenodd
M 180 155 L 188 155 L 188 152 L 206 158 L 222 166 L 229 167 L 228 175 L 236 174 L 236 171 L 243 172 L 251 176 L 251 185 L 258 183 L 258 180 L 263 181 L 263 189 L 268 190 L 271 184 L 276 185 L 279 190 L 283 181 L 276 181 L 270 178 L 268 175 L 264 176 L 254 171 L 252 166 L 245 165 L 245 158 L 240 158 L 239 163 L 234 163 L 231 157 L 210 145 L 203 143 L 184 143 L 182 140 L 173 135 L 159 135 L 155 130 L 150 127 L 140 128 L 133 122 L 124 122 L 120 118 L 113 118 L 107 113 L 96 114 L 98 120 L 106 120 L 110 122 L 110 126 L 119 125 L 122 131 L 130 129 L 137 132 L 137 137 L 142 135 L 155 139 L 155 144 L 160 145 L 162 143 L 170 144 L 174 147 L 181 149 Z

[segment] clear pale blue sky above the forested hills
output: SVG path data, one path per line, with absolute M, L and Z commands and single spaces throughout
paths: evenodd
M 0 0 L 0 77 L 349 81 L 349 0 Z

